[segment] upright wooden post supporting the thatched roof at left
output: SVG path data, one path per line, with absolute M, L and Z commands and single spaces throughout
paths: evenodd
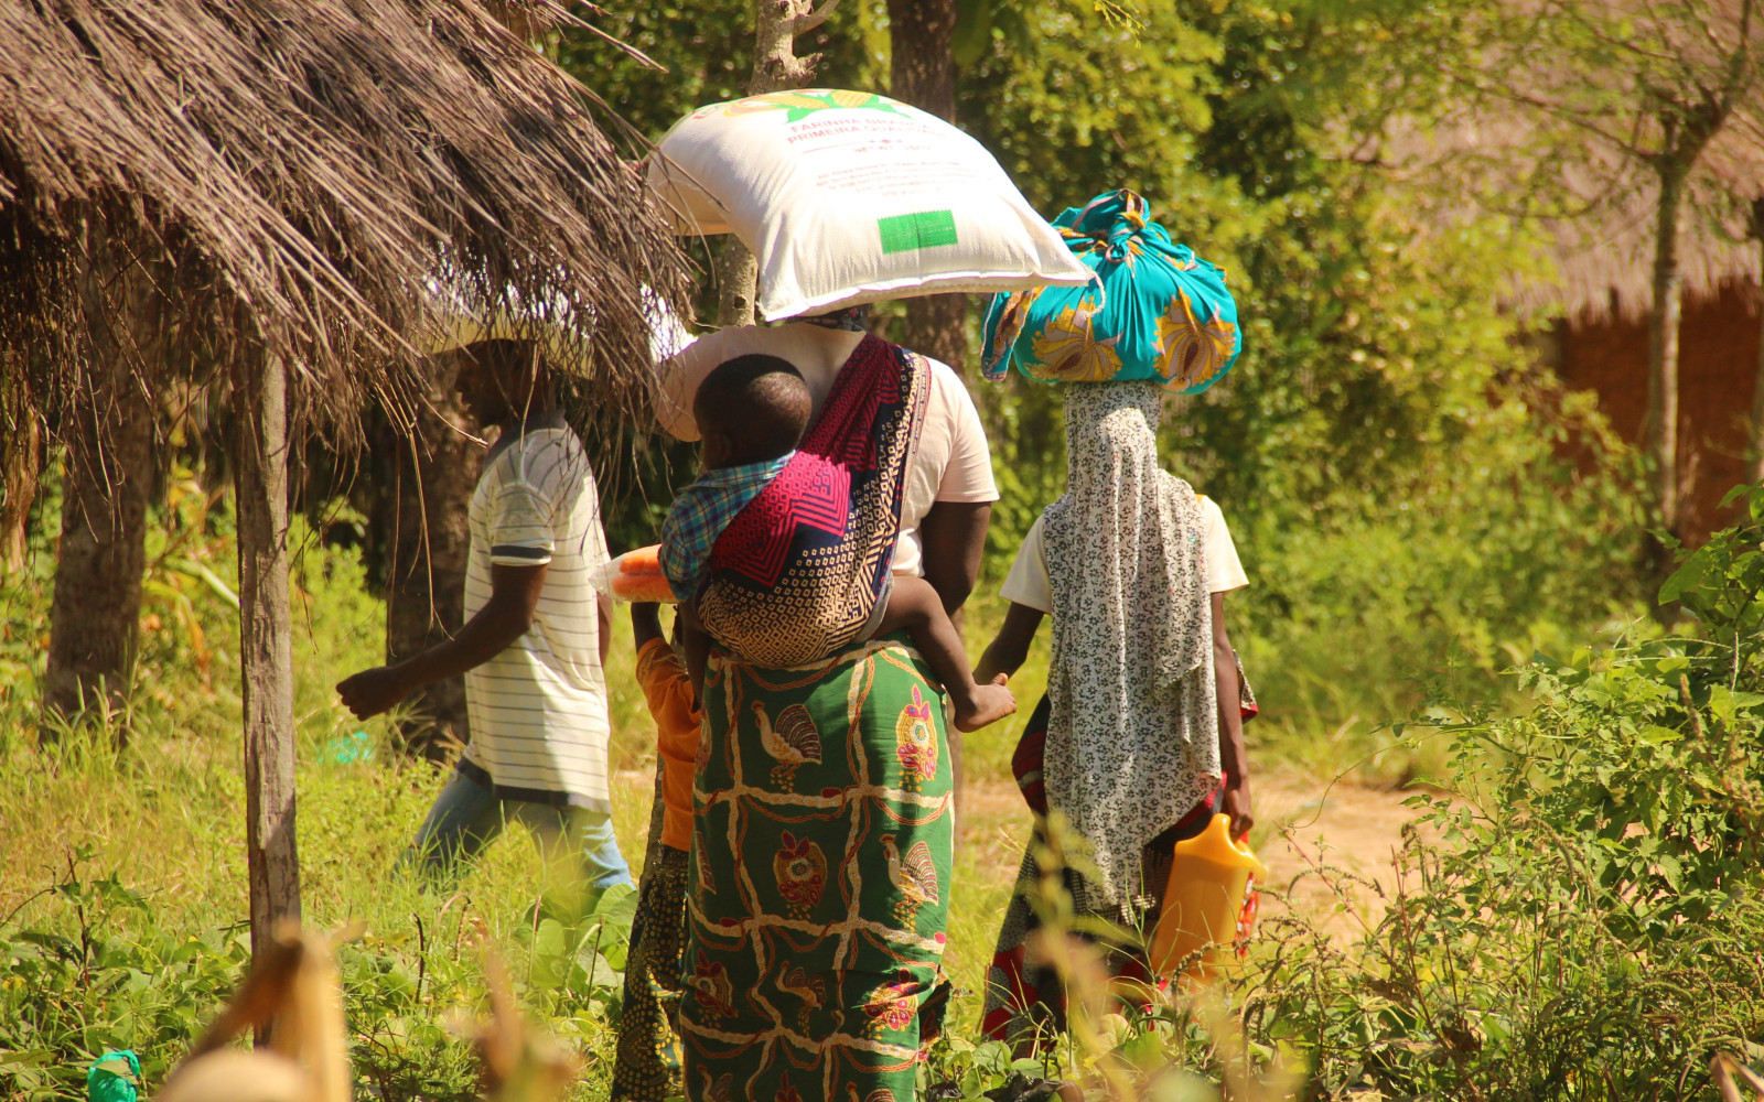
M 245 862 L 250 956 L 300 917 L 295 852 L 295 670 L 288 610 L 288 374 L 261 351 L 233 379 L 238 499 L 238 654 L 245 705 Z M 259 1033 L 258 1042 L 263 1044 Z

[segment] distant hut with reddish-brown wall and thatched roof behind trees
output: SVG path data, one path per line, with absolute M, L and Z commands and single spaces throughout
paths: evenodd
M 1429 130 L 1395 120 L 1371 159 L 1431 187 L 1420 194 L 1432 194 L 1438 210 L 1422 212 L 1422 224 L 1452 224 L 1464 217 L 1466 197 L 1482 197 L 1482 210 L 1521 215 L 1540 231 L 1544 256 L 1514 256 L 1503 307 L 1540 326 L 1544 356 L 1559 379 L 1595 391 L 1618 434 L 1644 446 L 1656 175 L 1593 139 L 1563 159 L 1531 120 L 1473 109 Z M 1759 205 L 1764 116 L 1753 104 L 1711 143 L 1686 182 L 1676 238 L 1683 293 L 1678 531 L 1692 541 L 1729 520 L 1720 501 L 1753 469 L 1753 393 L 1764 377 Z

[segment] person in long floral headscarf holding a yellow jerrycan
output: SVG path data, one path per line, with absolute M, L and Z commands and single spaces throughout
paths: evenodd
M 1219 506 L 1159 465 L 1161 407 L 1157 383 L 1065 388 L 1065 494 L 1025 538 L 1004 585 L 1011 608 L 975 672 L 1014 674 L 1053 617 L 1048 696 L 1023 748 L 1041 741 L 1041 755 L 1018 755 L 1039 758 L 1041 776 L 1020 779 L 1088 850 L 1088 875 L 1065 871 L 1078 912 L 1143 927 L 1177 841 L 1215 811 L 1233 836 L 1252 825 L 1224 622 L 1224 594 L 1247 578 Z M 1041 880 L 1034 855 L 1032 843 L 1020 889 Z M 988 975 L 990 1037 L 1021 1044 L 1064 1028 L 1058 979 L 1025 959 L 1034 927 L 1020 890 Z

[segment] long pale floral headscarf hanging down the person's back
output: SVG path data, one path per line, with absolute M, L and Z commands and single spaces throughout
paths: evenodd
M 1065 494 L 1043 513 L 1053 585 L 1043 783 L 1090 845 L 1076 903 L 1132 922 L 1140 855 L 1219 785 L 1200 503 L 1157 465 L 1161 391 L 1071 386 Z

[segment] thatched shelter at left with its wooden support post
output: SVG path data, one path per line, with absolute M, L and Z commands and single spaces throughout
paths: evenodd
M 478 4 L 0 5 L 0 390 L 60 411 L 95 543 L 139 495 L 118 425 L 173 367 L 231 395 L 254 938 L 300 897 L 289 441 L 409 418 L 437 268 L 549 303 L 610 400 L 649 361 L 642 287 L 686 291 L 582 90 Z

